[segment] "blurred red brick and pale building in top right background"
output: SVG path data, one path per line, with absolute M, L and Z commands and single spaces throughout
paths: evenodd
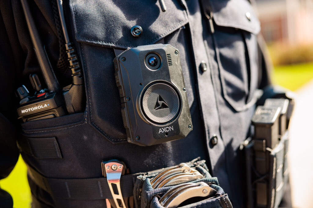
M 265 41 L 313 42 L 313 0 L 256 0 Z

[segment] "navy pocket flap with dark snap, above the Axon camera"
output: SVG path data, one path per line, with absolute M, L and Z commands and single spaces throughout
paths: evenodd
M 153 44 L 188 22 L 179 1 L 165 5 L 162 12 L 155 0 L 72 0 L 76 40 L 123 49 Z M 139 37 L 131 34 L 135 25 L 142 28 Z

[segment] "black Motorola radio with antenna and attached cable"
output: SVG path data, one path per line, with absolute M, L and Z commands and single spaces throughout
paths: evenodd
M 80 71 L 79 61 L 75 54 L 72 43 L 66 30 L 62 2 L 57 0 L 59 16 L 65 38 L 66 53 L 69 61 L 69 68 L 72 72 L 72 84 L 60 87 L 59 82 L 54 74 L 49 58 L 47 56 L 44 45 L 40 40 L 35 22 L 30 12 L 27 0 L 22 0 L 22 7 L 29 34 L 34 46 L 34 51 L 40 66 L 41 73 L 47 85 L 47 89 L 42 88 L 38 75 L 30 75 L 30 81 L 35 93 L 29 93 L 24 85 L 16 91 L 17 97 L 20 99 L 17 109 L 18 119 L 23 122 L 39 119 L 48 119 L 82 112 L 84 110 L 84 82 Z

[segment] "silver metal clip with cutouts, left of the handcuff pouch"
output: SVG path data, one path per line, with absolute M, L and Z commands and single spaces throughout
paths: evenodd
M 117 208 L 126 208 L 120 186 L 121 175 L 125 174 L 126 167 L 118 160 L 102 161 L 102 174 L 106 177 L 108 185 Z M 112 203 L 112 202 L 111 202 Z

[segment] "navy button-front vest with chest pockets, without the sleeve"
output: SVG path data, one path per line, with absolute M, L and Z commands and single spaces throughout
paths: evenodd
M 134 196 L 139 173 L 206 160 L 234 207 L 245 203 L 244 155 L 261 78 L 260 23 L 247 0 L 64 1 L 84 72 L 85 112 L 22 123 L 33 207 L 106 207 L 101 162 L 123 161 L 122 194 Z M 131 35 L 141 26 L 142 34 Z M 186 138 L 141 147 L 127 142 L 115 83 L 113 48 L 162 41 L 180 51 L 193 130 Z M 263 73 L 263 75 L 262 75 Z

